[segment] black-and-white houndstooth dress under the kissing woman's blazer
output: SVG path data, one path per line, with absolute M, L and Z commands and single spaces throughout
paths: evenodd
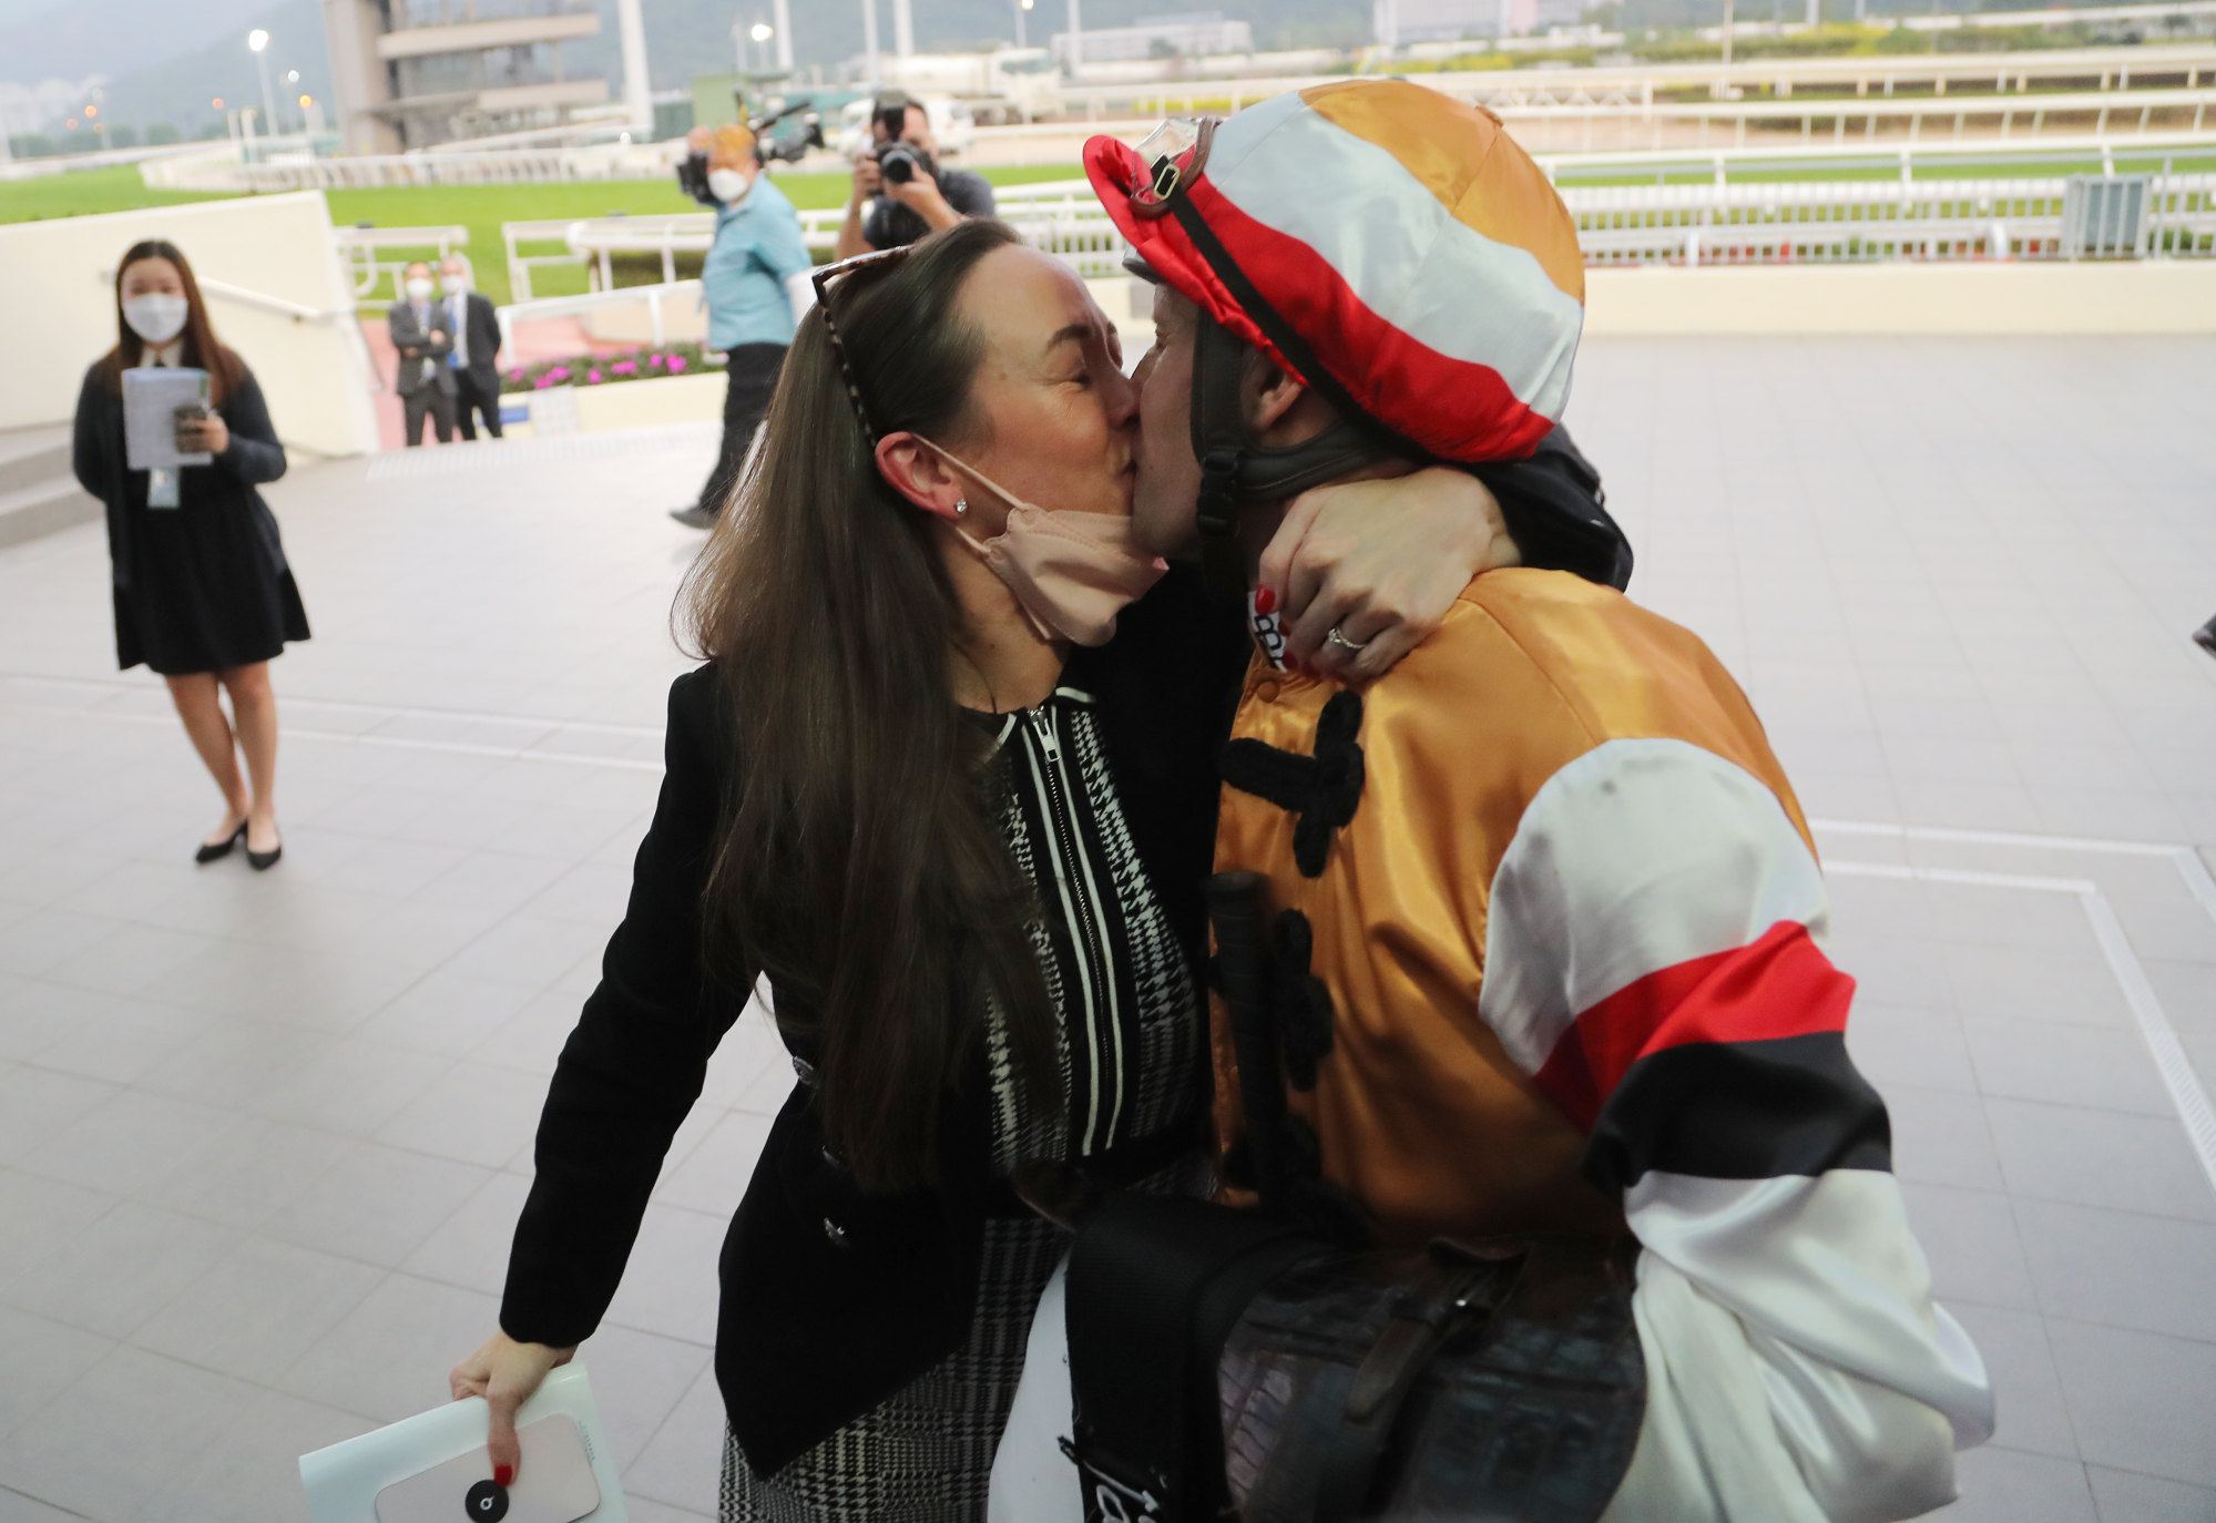
M 1022 1100 L 1006 1029 L 988 1013 L 993 1162 L 1008 1171 L 1190 1122 L 1206 1104 L 1206 1015 L 1124 825 L 1092 698 L 1059 687 L 993 723 L 1002 831 L 1037 889 L 1033 940 L 1061 1013 L 1061 1115 Z M 1172 1177 L 1150 1186 L 1172 1188 Z M 968 1341 L 773 1476 L 756 1476 L 727 1432 L 722 1523 L 984 1519 L 1030 1317 L 1066 1246 L 1048 1222 L 986 1219 Z

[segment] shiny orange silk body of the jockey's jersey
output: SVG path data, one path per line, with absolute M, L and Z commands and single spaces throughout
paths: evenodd
M 1256 656 L 1232 736 L 1307 756 L 1336 692 Z M 1471 581 L 1440 630 L 1363 692 L 1367 778 L 1323 876 L 1294 867 L 1292 814 L 1223 789 L 1217 871 L 1263 873 L 1270 918 L 1307 916 L 1312 971 L 1332 993 L 1332 1051 L 1290 1108 L 1383 1241 L 1622 1230 L 1618 1202 L 1578 1173 L 1584 1135 L 1478 1015 L 1487 900 L 1525 807 L 1615 738 L 1686 740 L 1744 767 L 1808 838 L 1762 723 L 1700 638 L 1620 592 L 1522 568 Z M 1243 1106 L 1221 998 L 1210 1035 L 1228 1151 Z

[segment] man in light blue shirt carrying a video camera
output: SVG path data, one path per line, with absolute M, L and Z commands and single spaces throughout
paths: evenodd
M 813 259 L 800 239 L 800 217 L 753 155 L 753 133 L 727 124 L 694 129 L 694 153 L 707 153 L 707 191 L 716 200 L 716 242 L 700 268 L 707 297 L 707 346 L 725 355 L 722 454 L 700 501 L 674 508 L 687 528 L 709 528 L 738 483 L 753 430 L 778 390 L 778 370 L 793 324 L 815 295 Z

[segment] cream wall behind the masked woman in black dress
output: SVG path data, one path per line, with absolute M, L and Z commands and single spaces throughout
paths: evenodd
M 84 368 L 115 344 L 115 262 L 142 237 L 177 244 L 202 279 L 339 313 L 295 321 L 208 293 L 217 337 L 253 366 L 288 448 L 377 448 L 368 352 L 321 191 L 0 226 L 9 339 L 18 355 L 38 357 L 0 366 L 0 428 L 71 419 Z

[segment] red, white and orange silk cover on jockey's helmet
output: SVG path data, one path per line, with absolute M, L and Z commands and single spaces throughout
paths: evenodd
M 1423 450 L 1520 459 L 1560 421 L 1584 257 L 1562 197 L 1491 113 L 1347 80 L 1230 117 L 1172 197 L 1237 266 L 1232 284 L 1179 215 L 1139 211 L 1157 195 L 1135 149 L 1090 140 L 1086 175 L 1155 275 L 1314 384 L 1234 295 L 1243 277 L 1354 406 Z

